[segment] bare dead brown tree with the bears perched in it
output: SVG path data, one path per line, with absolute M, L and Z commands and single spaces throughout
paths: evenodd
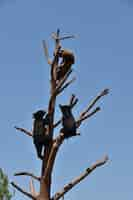
M 65 72 L 64 76 L 61 80 L 57 81 L 56 79 L 56 71 L 59 67 L 60 63 L 60 57 L 61 57 L 61 40 L 64 39 L 70 39 L 74 38 L 73 35 L 70 36 L 60 36 L 60 31 L 57 30 L 56 33 L 52 34 L 52 38 L 55 41 L 55 49 L 53 54 L 53 60 L 50 61 L 48 56 L 48 49 L 46 46 L 46 42 L 43 41 L 43 48 L 44 53 L 47 59 L 48 64 L 50 65 L 50 85 L 51 85 L 51 91 L 50 91 L 50 99 L 48 104 L 48 115 L 50 123 L 48 125 L 48 134 L 51 134 L 52 140 L 49 143 L 47 147 L 44 149 L 43 154 L 43 160 L 42 160 L 42 169 L 41 169 L 41 175 L 38 177 L 30 172 L 18 172 L 15 173 L 15 176 L 30 176 L 31 182 L 30 182 L 30 192 L 25 191 L 20 186 L 18 186 L 16 183 L 11 182 L 12 186 L 14 186 L 18 191 L 26 195 L 27 197 L 34 199 L 34 200 L 58 200 L 61 197 L 64 197 L 64 195 L 69 192 L 74 186 L 76 186 L 79 182 L 81 182 L 84 178 L 86 178 L 93 170 L 95 170 L 97 167 L 100 167 L 104 165 L 108 161 L 108 156 L 104 156 L 101 160 L 96 161 L 94 164 L 92 164 L 90 167 L 87 167 L 85 171 L 78 177 L 71 180 L 68 184 L 62 187 L 58 192 L 56 192 L 53 196 L 51 196 L 51 184 L 52 184 L 52 172 L 53 172 L 53 166 L 55 163 L 56 155 L 59 151 L 59 148 L 61 144 L 63 144 L 65 137 L 64 133 L 60 132 L 56 138 L 54 138 L 54 130 L 55 128 L 62 122 L 62 119 L 59 119 L 55 122 L 54 114 L 55 114 L 55 103 L 56 99 L 59 94 L 61 94 L 74 80 L 75 78 L 72 78 L 68 81 L 68 78 L 70 74 L 72 73 L 72 68 L 69 66 L 69 70 Z M 76 127 L 79 128 L 80 125 L 88 118 L 95 115 L 99 110 L 100 107 L 93 108 L 97 101 L 101 99 L 103 96 L 107 95 L 109 92 L 108 89 L 104 89 L 101 91 L 81 112 L 78 119 L 76 120 Z M 72 95 L 69 100 L 69 106 L 73 108 L 78 102 L 78 99 L 75 95 Z M 26 135 L 30 136 L 32 139 L 32 132 L 16 127 L 15 128 L 18 131 L 21 131 L 22 133 L 25 133 Z M 78 134 L 77 134 L 78 135 Z M 36 192 L 33 179 L 36 181 L 39 181 L 40 183 L 40 191 Z

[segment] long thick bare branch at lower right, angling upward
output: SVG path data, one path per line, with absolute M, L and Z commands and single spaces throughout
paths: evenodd
M 91 172 L 93 172 L 97 167 L 104 165 L 108 161 L 108 156 L 105 156 L 103 159 L 96 161 L 91 167 L 87 168 L 84 173 L 82 173 L 79 177 L 72 180 L 70 183 L 65 185 L 63 189 L 57 192 L 53 197 L 52 200 L 58 200 L 64 194 L 66 194 L 69 190 L 71 190 L 75 185 L 80 183 L 84 178 L 86 178 Z

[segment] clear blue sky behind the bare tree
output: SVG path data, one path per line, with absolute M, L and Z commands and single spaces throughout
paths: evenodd
M 53 192 L 108 154 L 110 162 L 97 169 L 67 199 L 121 199 L 133 196 L 133 4 L 131 0 L 0 0 L 0 167 L 10 180 L 27 188 L 28 178 L 13 173 L 27 170 L 39 175 L 31 138 L 13 128 L 32 127 L 32 113 L 47 108 L 49 66 L 42 39 L 57 28 L 77 34 L 63 42 L 76 54 L 77 81 L 57 100 L 71 93 L 80 101 L 75 115 L 99 91 L 111 93 L 98 105 L 102 111 L 81 126 L 80 138 L 62 146 L 53 176 Z M 57 108 L 57 117 L 59 118 Z M 26 183 L 26 184 L 25 184 Z M 14 200 L 27 199 L 16 192 Z

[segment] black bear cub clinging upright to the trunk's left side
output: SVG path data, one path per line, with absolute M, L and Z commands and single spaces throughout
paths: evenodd
M 47 146 L 51 140 L 47 133 L 49 117 L 44 110 L 39 110 L 33 113 L 33 119 L 33 143 L 35 145 L 38 158 L 43 159 L 42 149 Z

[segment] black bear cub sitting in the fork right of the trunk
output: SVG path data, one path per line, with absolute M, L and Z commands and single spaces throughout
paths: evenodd
M 69 138 L 76 134 L 76 121 L 72 114 L 72 108 L 70 105 L 59 105 L 62 112 L 62 126 L 61 132 L 64 133 L 65 138 Z

